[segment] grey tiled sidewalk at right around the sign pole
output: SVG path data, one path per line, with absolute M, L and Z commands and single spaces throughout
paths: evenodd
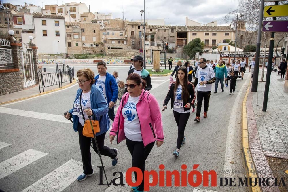
M 265 156 L 288 159 L 288 88 L 284 87 L 284 79 L 272 72 L 267 111 L 263 112 L 265 83 L 258 82 L 258 92 L 251 92 L 250 88 L 246 108 L 249 149 L 258 177 L 267 179 L 274 176 Z M 262 190 L 279 188 L 266 186 Z

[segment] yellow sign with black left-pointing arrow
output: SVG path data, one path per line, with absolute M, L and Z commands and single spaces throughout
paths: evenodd
M 286 17 L 288 16 L 288 4 L 265 6 L 264 17 Z

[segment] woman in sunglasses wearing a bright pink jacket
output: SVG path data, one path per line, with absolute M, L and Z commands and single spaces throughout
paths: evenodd
M 156 141 L 157 147 L 164 142 L 163 125 L 160 107 L 156 98 L 142 89 L 143 81 L 137 73 L 127 77 L 125 93 L 120 102 L 110 131 L 110 142 L 116 137 L 116 142 L 126 140 L 126 145 L 132 155 L 132 167 L 138 167 L 144 174 L 145 161 Z M 135 178 L 137 175 L 135 173 Z M 144 180 L 133 191 L 144 190 Z

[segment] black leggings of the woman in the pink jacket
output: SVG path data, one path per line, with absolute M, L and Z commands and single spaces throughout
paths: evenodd
M 132 155 L 132 167 L 138 167 L 142 171 L 142 175 L 144 177 L 144 171 L 145 171 L 145 161 L 151 152 L 154 142 L 149 143 L 144 147 L 144 144 L 142 141 L 131 141 L 128 138 L 126 138 L 126 145 L 128 147 L 129 152 Z M 137 174 L 135 174 L 135 179 L 137 180 Z M 139 191 L 144 190 L 144 178 L 142 179 L 142 183 L 138 186 Z

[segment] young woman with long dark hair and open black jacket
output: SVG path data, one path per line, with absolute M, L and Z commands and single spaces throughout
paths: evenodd
M 194 104 L 196 95 L 194 86 L 188 82 L 188 73 L 185 66 L 179 67 L 176 82 L 172 83 L 168 94 L 164 100 L 162 111 L 167 109 L 167 104 L 171 99 L 171 109 L 173 108 L 174 118 L 178 127 L 177 146 L 173 155 L 178 157 L 181 146 L 185 143 L 184 131 L 189 119 L 191 105 Z

